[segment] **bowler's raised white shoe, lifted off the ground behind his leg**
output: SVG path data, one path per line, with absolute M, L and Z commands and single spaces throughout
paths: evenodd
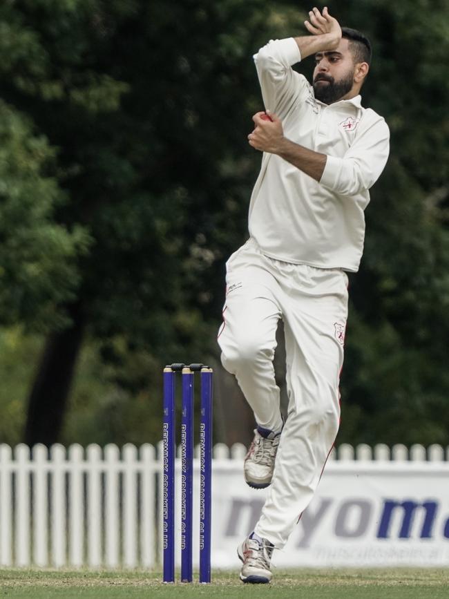
M 270 432 L 262 437 L 256 428 L 254 439 L 249 447 L 243 464 L 245 481 L 253 488 L 265 488 L 271 484 L 274 472 L 274 460 L 278 451 L 280 432 Z

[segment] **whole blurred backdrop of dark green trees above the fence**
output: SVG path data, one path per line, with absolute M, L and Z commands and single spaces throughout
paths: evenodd
M 350 277 L 338 442 L 446 445 L 449 5 L 328 6 L 372 39 L 363 104 L 392 134 Z M 0 3 L 1 442 L 155 444 L 173 361 L 213 365 L 216 441 L 249 441 L 216 332 L 260 165 L 252 55 L 304 34 L 310 8 Z

